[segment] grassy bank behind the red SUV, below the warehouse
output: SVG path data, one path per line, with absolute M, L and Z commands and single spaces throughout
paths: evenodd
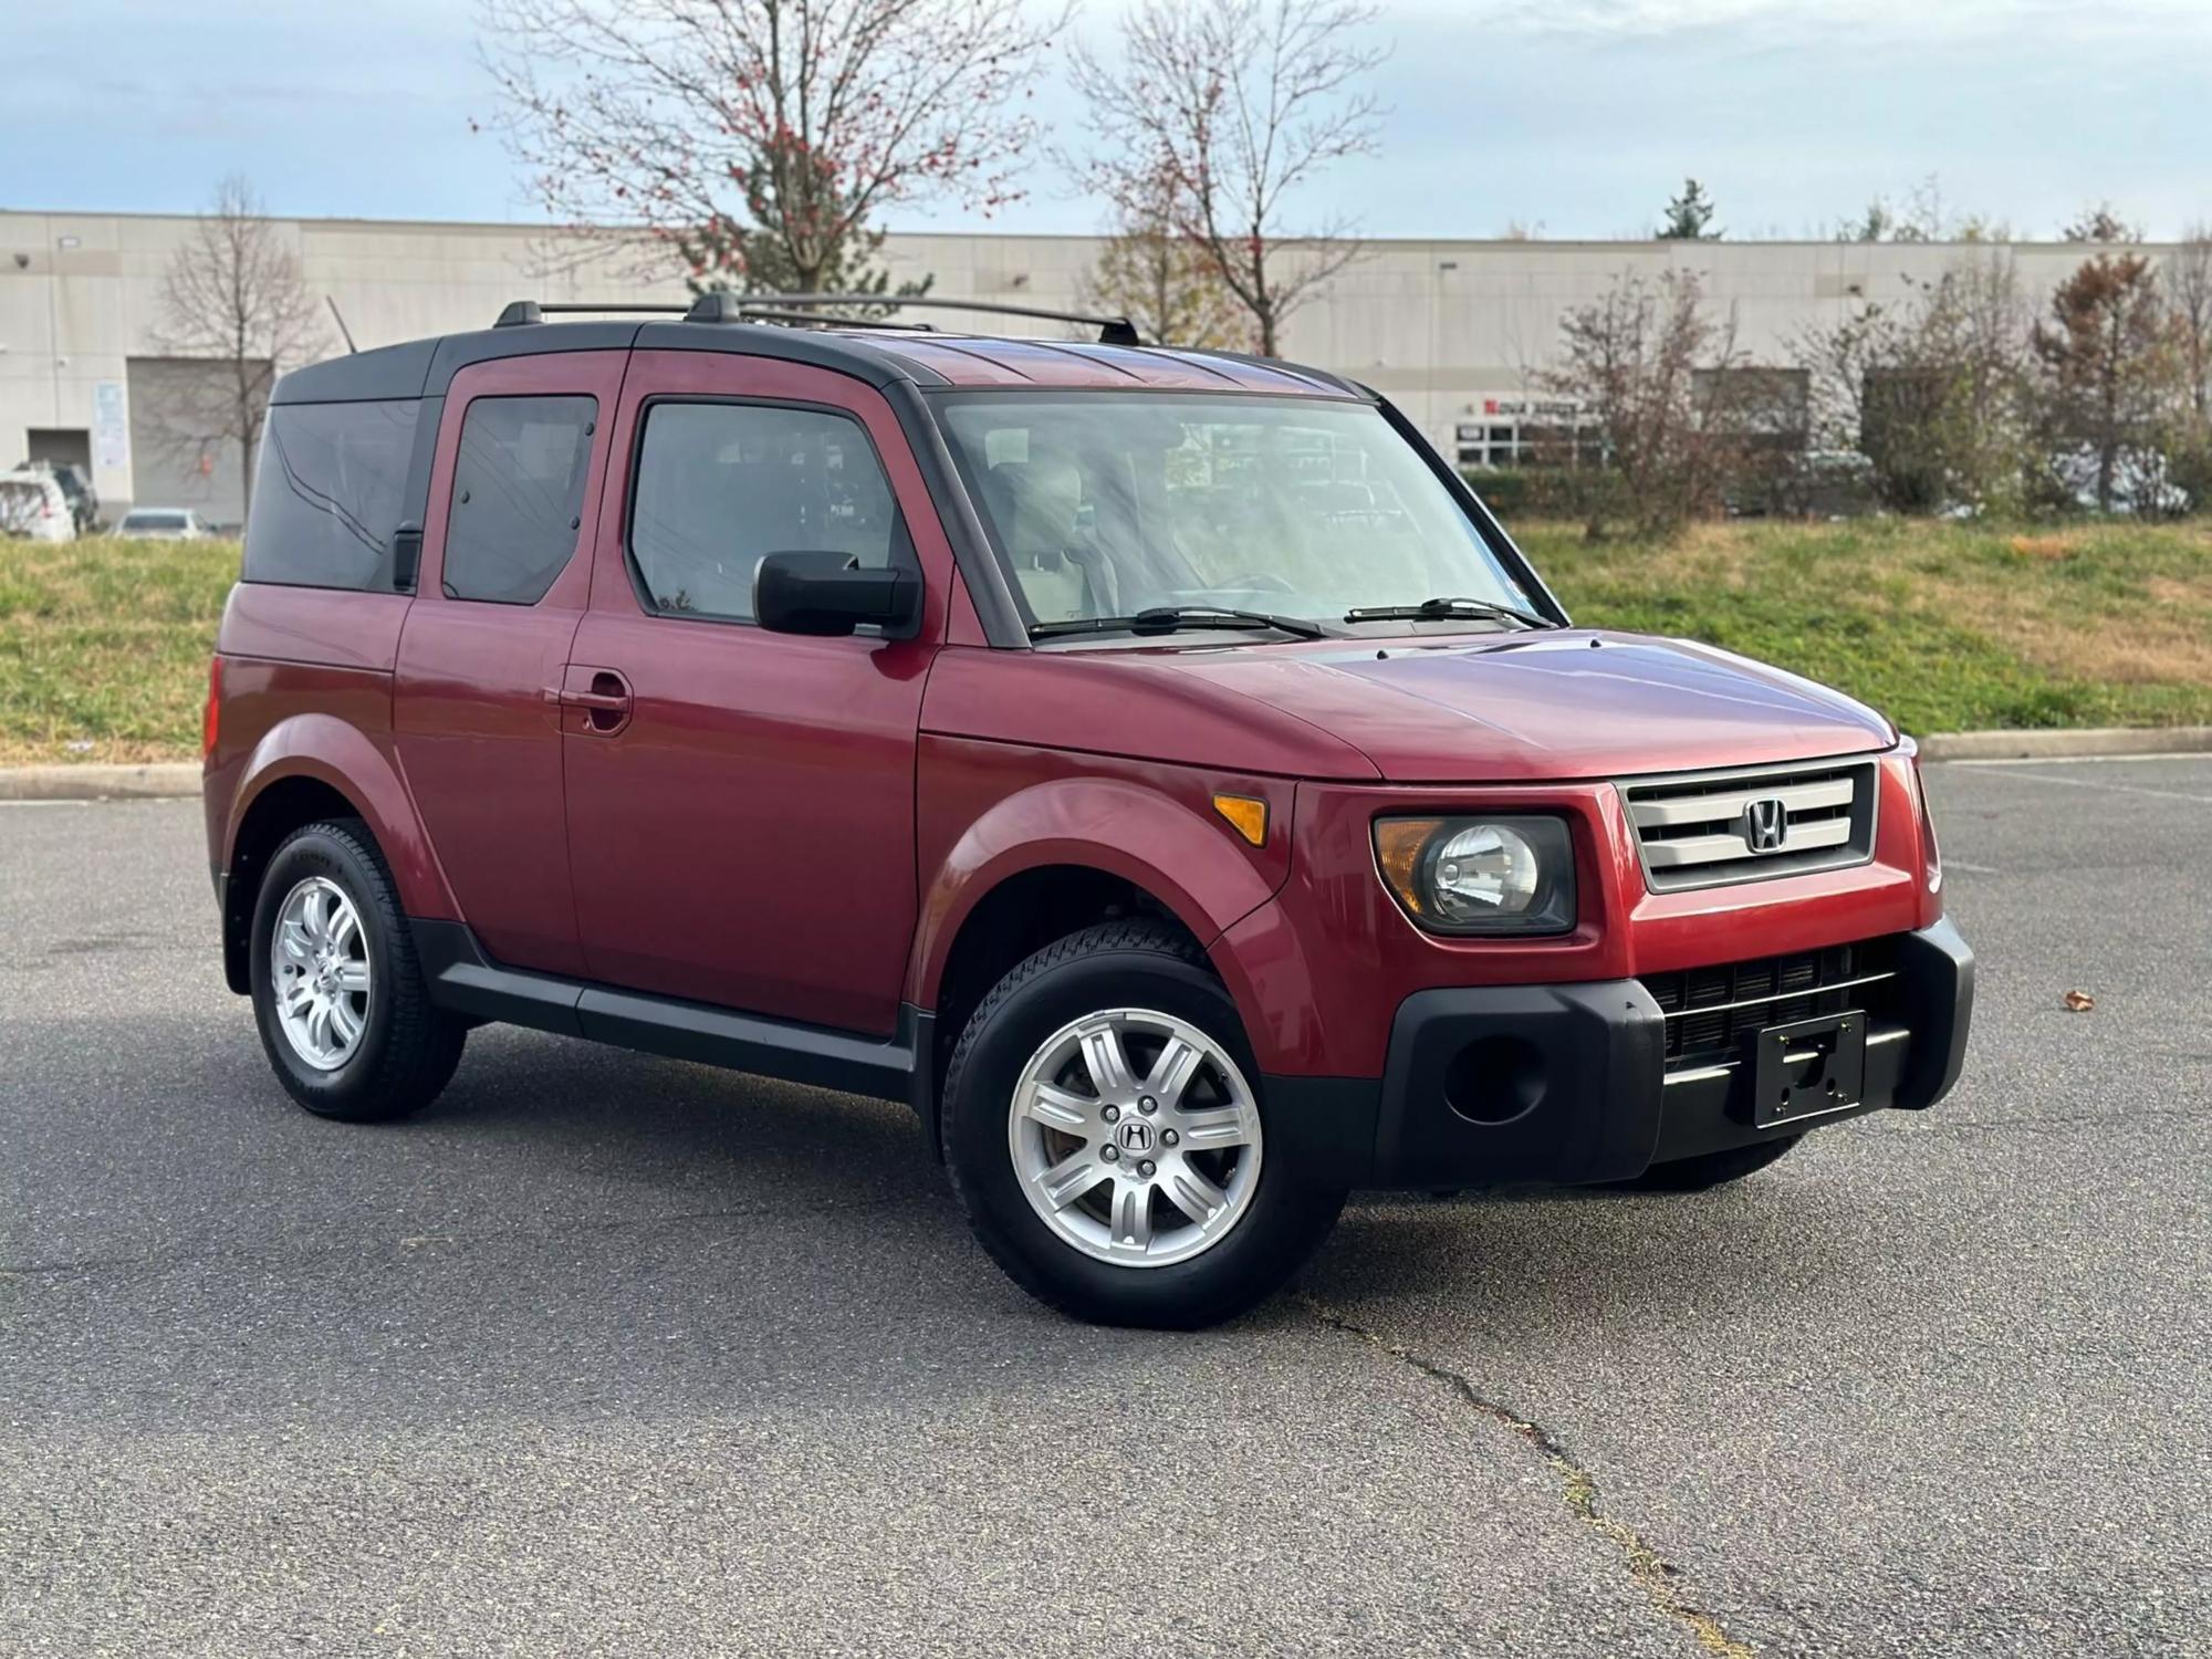
M 2212 723 L 2212 524 L 1513 526 L 1582 624 L 1710 639 L 1911 732 Z M 199 754 L 237 542 L 0 542 L 0 765 Z

